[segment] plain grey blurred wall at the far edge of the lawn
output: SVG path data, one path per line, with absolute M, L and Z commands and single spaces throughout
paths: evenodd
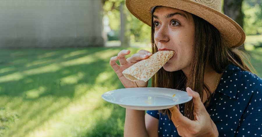
M 0 47 L 103 46 L 100 0 L 0 0 Z

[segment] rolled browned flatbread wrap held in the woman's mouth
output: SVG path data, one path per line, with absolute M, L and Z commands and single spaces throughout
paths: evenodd
M 124 70 L 125 78 L 131 81 L 148 81 L 172 57 L 175 51 L 158 51 L 152 56 Z

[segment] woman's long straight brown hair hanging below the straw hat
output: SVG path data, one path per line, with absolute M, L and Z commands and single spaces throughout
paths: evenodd
M 151 23 L 151 44 L 152 53 L 157 52 L 157 46 L 154 41 L 154 22 L 152 10 L 152 23 Z M 213 69 L 221 74 L 225 71 L 229 64 L 236 65 L 242 70 L 249 71 L 252 67 L 249 57 L 237 48 L 229 47 L 219 31 L 206 20 L 191 14 L 195 24 L 195 37 L 194 37 L 194 57 L 191 62 L 190 76 L 186 77 L 182 70 L 167 72 L 163 67 L 152 77 L 152 87 L 172 88 L 185 91 L 186 87 L 199 93 L 203 101 L 203 92 L 206 91 L 208 99 L 206 106 L 210 103 L 210 88 L 204 83 L 204 72 L 207 64 L 210 64 Z M 194 104 L 191 100 L 185 103 L 184 115 L 193 120 Z M 162 114 L 167 114 L 171 119 L 171 113 L 168 109 L 159 110 Z

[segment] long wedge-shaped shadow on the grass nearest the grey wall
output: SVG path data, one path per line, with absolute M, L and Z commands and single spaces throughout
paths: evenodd
M 44 67 L 49 65 L 50 63 L 61 63 L 63 61 L 70 61 L 76 58 L 80 58 L 86 55 L 92 55 L 95 52 L 104 51 L 108 49 L 103 48 L 92 48 L 92 49 L 43 49 L 43 51 L 34 50 L 25 50 L 16 51 L 14 53 L 10 52 L 9 55 L 3 54 L 0 59 L 0 69 L 4 67 L 13 67 L 14 70 L 7 71 L 7 72 L 0 72 L 0 76 L 12 74 L 14 72 L 22 72 L 25 70 L 31 70 L 39 67 Z M 79 52 L 71 54 L 74 52 Z M 0 52 L 1 53 L 1 52 Z M 9 52 L 7 52 L 9 53 Z M 69 54 L 69 55 L 67 55 Z M 39 63 L 39 62 L 43 63 Z M 36 62 L 35 64 L 38 65 L 30 65 L 29 67 L 26 66 L 27 64 L 33 64 L 32 62 Z

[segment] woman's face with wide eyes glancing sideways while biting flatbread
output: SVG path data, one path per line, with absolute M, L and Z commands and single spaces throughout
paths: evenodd
M 194 50 L 194 20 L 183 10 L 157 7 L 153 14 L 154 40 L 158 51 L 174 50 L 175 55 L 163 66 L 172 72 L 189 73 Z

